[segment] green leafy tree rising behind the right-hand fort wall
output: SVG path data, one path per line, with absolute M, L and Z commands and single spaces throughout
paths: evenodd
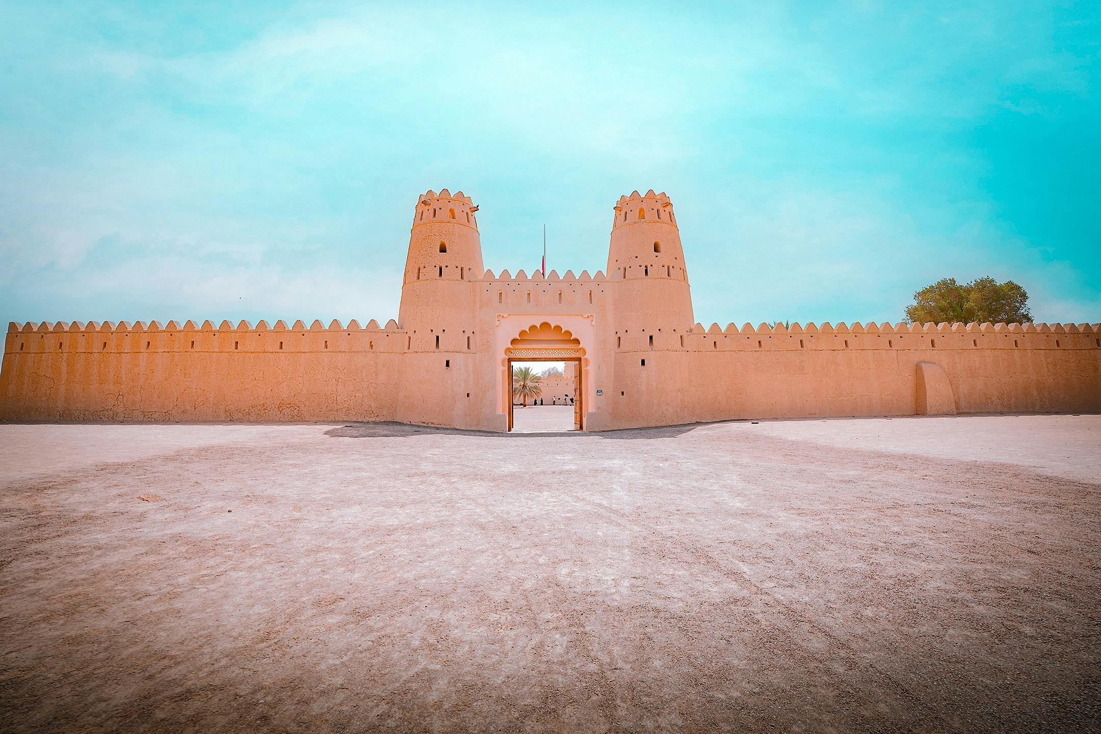
M 992 277 L 980 277 L 966 285 L 946 277 L 914 294 L 914 303 L 906 307 L 911 324 L 1028 324 L 1028 294 L 1013 281 L 999 283 Z

